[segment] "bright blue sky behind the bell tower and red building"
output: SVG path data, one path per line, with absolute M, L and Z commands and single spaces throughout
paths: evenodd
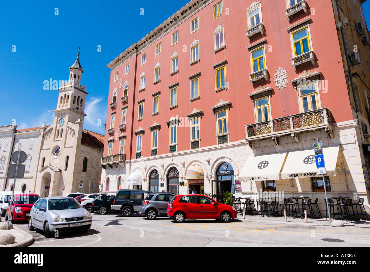
M 110 61 L 183 7 L 188 0 L 155 6 L 156 1 L 1 1 L 0 125 L 18 128 L 52 124 L 57 91 L 44 80 L 67 80 L 81 47 L 87 85 L 84 128 L 104 134 Z M 55 8 L 58 15 L 55 15 Z M 144 15 L 140 15 L 140 9 Z M 363 4 L 370 24 L 370 0 Z M 101 52 L 97 46 L 101 45 Z M 12 49 L 15 46 L 15 52 Z

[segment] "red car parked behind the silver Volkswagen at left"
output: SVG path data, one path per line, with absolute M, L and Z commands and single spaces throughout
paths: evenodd
M 36 194 L 17 194 L 14 196 L 13 203 L 11 204 L 11 212 L 10 212 L 10 221 L 14 223 L 14 221 L 28 221 L 28 216 L 30 216 L 30 211 L 40 196 Z M 9 205 L 6 208 L 6 215 L 5 220 L 8 220 L 9 216 Z

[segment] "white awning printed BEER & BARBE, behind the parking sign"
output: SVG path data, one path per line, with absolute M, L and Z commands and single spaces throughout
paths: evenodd
M 336 176 L 339 146 L 324 147 L 324 161 L 327 176 Z M 281 178 L 319 177 L 317 175 L 315 153 L 312 149 L 290 151 L 286 158 Z

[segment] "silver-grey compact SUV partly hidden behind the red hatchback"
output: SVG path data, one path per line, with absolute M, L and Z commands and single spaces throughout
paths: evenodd
M 155 219 L 157 216 L 167 217 L 168 202 L 174 196 L 172 193 L 149 194 L 142 202 L 140 214 L 144 214 L 148 219 Z

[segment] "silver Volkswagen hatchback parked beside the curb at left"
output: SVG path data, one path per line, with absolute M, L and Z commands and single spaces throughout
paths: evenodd
M 40 198 L 31 208 L 28 229 L 41 229 L 49 238 L 55 232 L 84 231 L 90 229 L 92 218 L 72 197 Z

